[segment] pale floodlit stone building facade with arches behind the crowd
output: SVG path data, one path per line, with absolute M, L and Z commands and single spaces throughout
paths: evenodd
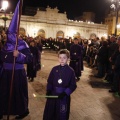
M 1 14 L 2 15 L 2 14 Z M 7 27 L 13 14 L 9 14 Z M 0 26 L 4 25 L 2 18 Z M 45 38 L 56 37 L 82 37 L 92 38 L 95 36 L 107 36 L 108 26 L 83 21 L 68 20 L 66 12 L 59 13 L 57 8 L 51 9 L 49 6 L 46 11 L 37 10 L 35 16 L 21 16 L 20 33 L 35 37 L 40 35 Z

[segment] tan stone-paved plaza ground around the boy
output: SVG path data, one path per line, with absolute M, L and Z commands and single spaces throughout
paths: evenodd
M 30 114 L 24 120 L 42 120 L 45 98 L 34 98 L 33 93 L 46 93 L 46 80 L 53 66 L 57 65 L 57 54 L 44 51 L 42 54 L 42 69 L 34 82 L 29 82 Z M 120 98 L 109 93 L 110 86 L 102 79 L 93 77 L 96 70 L 87 67 L 86 63 L 77 89 L 71 95 L 71 111 L 69 120 L 120 120 Z M 52 109 L 52 106 L 51 106 Z M 11 120 L 14 117 L 11 116 Z

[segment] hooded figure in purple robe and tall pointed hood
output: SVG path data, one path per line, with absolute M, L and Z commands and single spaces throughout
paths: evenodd
M 29 114 L 28 84 L 24 64 L 31 62 L 32 56 L 28 45 L 21 38 L 18 38 L 17 50 L 15 50 L 17 30 L 19 28 L 19 4 L 20 1 L 17 4 L 14 16 L 7 30 L 6 44 L 0 52 L 0 61 L 3 64 L 2 75 L 0 76 L 0 119 L 3 115 L 8 114 L 14 57 L 16 60 L 9 114 L 18 115 L 16 119 L 22 119 Z M 14 55 L 16 52 L 17 56 Z

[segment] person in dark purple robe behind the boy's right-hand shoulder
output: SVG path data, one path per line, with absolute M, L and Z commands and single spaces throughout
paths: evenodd
M 81 56 L 82 47 L 78 44 L 78 39 L 74 39 L 74 44 L 70 48 L 70 67 L 75 71 L 76 79 L 79 80 L 81 76 Z

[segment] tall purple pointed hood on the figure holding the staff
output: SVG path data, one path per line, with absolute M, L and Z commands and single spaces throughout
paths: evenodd
M 15 8 L 14 15 L 12 17 L 12 20 L 10 22 L 9 28 L 7 30 L 7 41 L 4 45 L 3 49 L 6 51 L 14 51 L 16 46 L 16 40 L 17 40 L 17 34 L 19 29 L 19 15 L 20 13 L 20 0 L 17 3 L 17 6 Z M 21 46 L 22 45 L 22 46 Z M 20 48 L 28 48 L 28 45 L 23 41 L 22 39 L 18 39 L 18 50 Z

